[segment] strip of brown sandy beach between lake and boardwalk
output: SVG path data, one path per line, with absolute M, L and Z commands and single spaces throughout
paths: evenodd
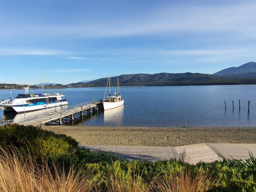
M 256 127 L 98 127 L 44 126 L 82 145 L 176 147 L 197 143 L 256 143 Z

